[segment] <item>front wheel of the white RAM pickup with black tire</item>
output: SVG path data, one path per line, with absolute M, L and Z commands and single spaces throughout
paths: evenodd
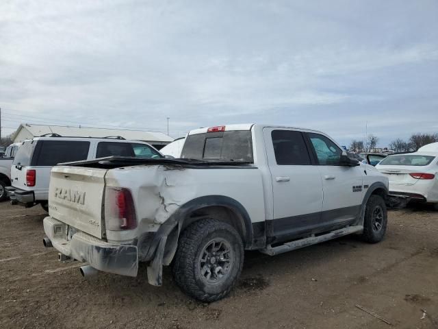
M 376 219 L 376 214 L 380 214 Z M 385 200 L 380 195 L 371 195 L 365 208 L 362 239 L 368 243 L 378 243 L 383 240 L 387 228 L 388 213 Z M 377 225 L 376 223 L 379 223 Z

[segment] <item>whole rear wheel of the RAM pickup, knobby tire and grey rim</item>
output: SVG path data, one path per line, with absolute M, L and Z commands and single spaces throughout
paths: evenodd
M 242 271 L 244 246 L 233 226 L 216 219 L 192 223 L 181 234 L 173 277 L 182 291 L 202 302 L 225 297 Z

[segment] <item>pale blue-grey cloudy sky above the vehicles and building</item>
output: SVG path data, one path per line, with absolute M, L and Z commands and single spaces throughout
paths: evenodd
M 438 1 L 0 1 L 3 134 L 19 122 L 224 123 L 339 143 L 438 132 Z

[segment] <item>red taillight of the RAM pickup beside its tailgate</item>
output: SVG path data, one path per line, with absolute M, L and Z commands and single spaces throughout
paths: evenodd
M 127 188 L 107 188 L 105 193 L 105 226 L 110 231 L 137 227 L 136 208 Z

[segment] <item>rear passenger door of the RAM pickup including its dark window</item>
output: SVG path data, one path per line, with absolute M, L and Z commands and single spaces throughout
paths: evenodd
M 279 242 L 312 232 L 320 226 L 323 193 L 320 172 L 311 164 L 303 133 L 266 127 L 263 135 L 274 195 L 268 234 Z

